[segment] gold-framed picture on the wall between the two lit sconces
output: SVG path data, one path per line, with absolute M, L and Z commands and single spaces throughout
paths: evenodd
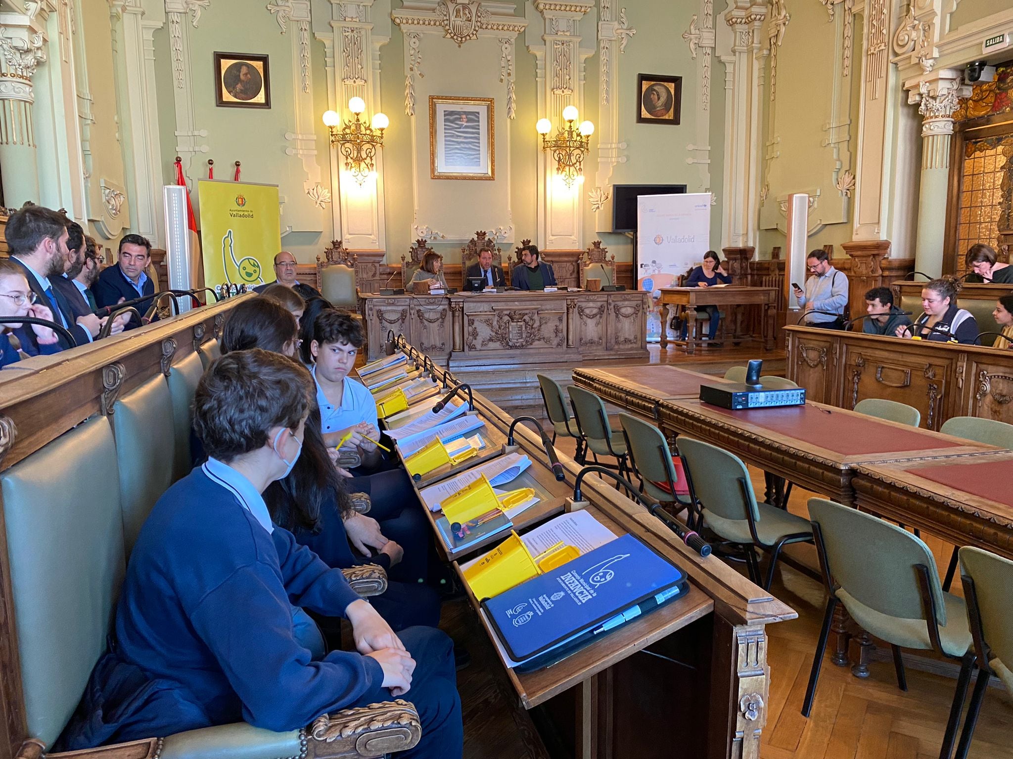
M 495 179 L 494 120 L 491 97 L 430 95 L 430 176 Z

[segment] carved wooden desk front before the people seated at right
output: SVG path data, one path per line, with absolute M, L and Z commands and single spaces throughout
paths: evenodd
M 1013 350 L 811 327 L 784 332 L 787 376 L 809 400 L 846 409 L 863 398 L 899 401 L 921 411 L 927 429 L 953 416 L 1013 423 Z

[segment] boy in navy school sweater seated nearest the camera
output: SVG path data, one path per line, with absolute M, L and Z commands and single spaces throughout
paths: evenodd
M 312 389 L 305 368 L 259 349 L 208 368 L 193 424 L 209 459 L 141 530 L 110 650 L 62 750 L 240 721 L 290 731 L 403 693 L 422 737 L 400 756 L 461 756 L 450 639 L 431 627 L 395 635 L 339 570 L 270 521 L 260 494 L 299 456 Z M 359 653 L 314 658 L 319 631 L 299 607 L 347 618 Z

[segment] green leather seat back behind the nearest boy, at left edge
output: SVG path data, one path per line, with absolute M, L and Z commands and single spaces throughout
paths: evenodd
M 108 420 L 15 463 L 0 492 L 28 735 L 52 745 L 105 650 L 126 569 Z

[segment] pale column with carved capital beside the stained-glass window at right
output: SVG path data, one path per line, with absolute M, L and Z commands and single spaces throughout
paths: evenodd
M 970 95 L 961 72 L 943 69 L 911 90 L 908 101 L 922 114 L 922 180 L 918 196 L 918 243 L 915 269 L 936 276 L 942 272 L 949 188 L 950 137 L 958 99 Z

